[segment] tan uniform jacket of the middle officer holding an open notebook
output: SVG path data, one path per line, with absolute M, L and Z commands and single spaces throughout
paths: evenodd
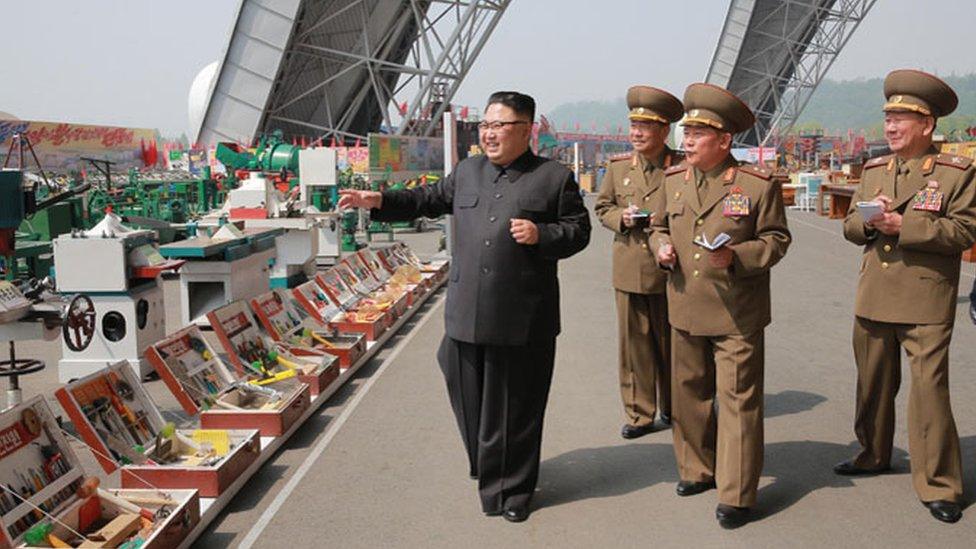
M 701 202 L 696 170 L 665 172 L 665 215 L 653 223 L 651 247 L 656 257 L 671 242 L 677 255 L 668 278 L 672 326 L 696 336 L 751 334 L 770 322 L 769 271 L 792 240 L 783 196 L 768 170 L 739 166 L 731 156 L 714 172 Z M 733 261 L 716 269 L 693 241 L 723 232 L 732 238 Z

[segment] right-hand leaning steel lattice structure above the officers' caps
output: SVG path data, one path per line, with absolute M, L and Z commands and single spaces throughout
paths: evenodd
M 707 81 L 741 97 L 756 125 L 737 146 L 792 129 L 876 0 L 732 0 Z

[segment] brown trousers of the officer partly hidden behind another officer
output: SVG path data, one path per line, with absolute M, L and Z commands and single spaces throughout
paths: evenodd
M 671 325 L 665 293 L 615 290 L 620 397 L 627 423 L 638 427 L 671 414 Z

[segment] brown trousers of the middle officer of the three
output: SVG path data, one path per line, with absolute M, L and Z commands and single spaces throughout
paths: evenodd
M 671 351 L 681 480 L 714 479 L 719 503 L 752 507 L 763 466 L 763 331 L 694 336 L 672 328 Z

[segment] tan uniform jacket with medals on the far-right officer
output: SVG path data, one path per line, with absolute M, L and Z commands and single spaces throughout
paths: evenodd
M 866 163 L 844 219 L 844 237 L 864 246 L 854 314 L 900 324 L 952 322 L 960 255 L 976 241 L 974 169 L 969 159 L 934 148 L 908 165 L 899 176 L 893 155 Z M 857 211 L 858 201 L 879 194 L 892 197 L 902 214 L 898 235 L 868 228 Z

